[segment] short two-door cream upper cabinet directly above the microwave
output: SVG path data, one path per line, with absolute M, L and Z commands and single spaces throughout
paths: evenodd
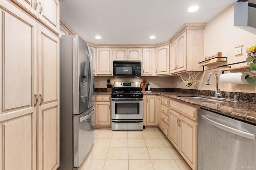
M 140 48 L 114 48 L 114 61 L 140 61 L 141 49 Z

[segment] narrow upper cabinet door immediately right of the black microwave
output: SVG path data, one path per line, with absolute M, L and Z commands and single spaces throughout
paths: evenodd
M 152 49 L 142 49 L 142 76 L 152 75 Z

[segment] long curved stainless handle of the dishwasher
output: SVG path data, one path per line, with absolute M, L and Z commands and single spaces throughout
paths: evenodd
M 251 134 L 251 133 L 247 133 L 247 132 L 240 131 L 240 130 L 238 130 L 238 129 L 234 129 L 234 128 L 229 127 L 229 126 L 226 126 L 226 125 L 222 125 L 222 124 L 220 124 L 220 123 L 218 123 L 218 122 L 216 122 L 216 121 L 213 121 L 213 120 L 207 118 L 205 115 L 202 115 L 202 118 L 203 118 L 206 122 L 210 123 L 211 125 L 213 125 L 213 126 L 215 126 L 215 127 L 218 127 L 218 128 L 220 128 L 220 129 L 223 129 L 223 130 L 225 130 L 225 131 L 228 131 L 228 132 L 230 132 L 230 133 L 234 133 L 234 134 L 239 135 L 239 136 L 242 136 L 242 137 L 246 137 L 246 138 L 248 138 L 248 139 L 255 140 L 255 135 L 253 135 L 253 134 Z

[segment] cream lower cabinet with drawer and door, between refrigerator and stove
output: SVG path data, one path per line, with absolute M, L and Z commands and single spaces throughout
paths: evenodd
M 95 95 L 95 125 L 111 125 L 110 95 Z

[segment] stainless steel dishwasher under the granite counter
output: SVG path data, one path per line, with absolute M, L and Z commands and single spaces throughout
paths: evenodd
M 198 170 L 256 170 L 256 126 L 198 109 Z

